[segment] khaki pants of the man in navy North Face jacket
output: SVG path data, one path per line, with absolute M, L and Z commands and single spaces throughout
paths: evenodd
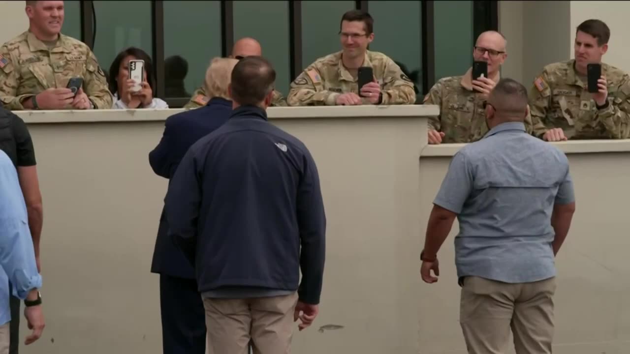
M 203 299 L 208 353 L 289 354 L 297 292 L 255 299 Z M 0 353 L 1 354 L 1 353 Z

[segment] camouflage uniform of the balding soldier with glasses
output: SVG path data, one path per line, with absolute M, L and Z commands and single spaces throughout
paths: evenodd
M 486 101 L 483 94 L 473 91 L 472 69 L 463 76 L 440 79 L 429 91 L 424 105 L 437 105 L 440 115 L 429 118 L 429 128 L 444 132 L 443 144 L 475 142 L 488 132 L 486 125 Z M 498 83 L 500 77 L 491 78 Z M 532 118 L 525 117 L 525 130 L 532 133 Z

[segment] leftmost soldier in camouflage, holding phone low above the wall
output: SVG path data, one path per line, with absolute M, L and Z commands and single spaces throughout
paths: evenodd
M 112 94 L 94 53 L 60 33 L 63 1 L 26 1 L 28 31 L 0 47 L 0 101 L 9 110 L 112 108 Z M 66 88 L 82 77 L 76 96 Z

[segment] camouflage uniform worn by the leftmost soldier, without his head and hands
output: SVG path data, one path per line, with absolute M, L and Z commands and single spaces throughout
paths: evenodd
M 75 76 L 83 77 L 83 91 L 95 108 L 112 108 L 105 74 L 85 43 L 59 34 L 49 49 L 26 31 L 0 48 L 0 101 L 9 110 L 23 110 L 23 99 L 45 89 L 65 88 Z

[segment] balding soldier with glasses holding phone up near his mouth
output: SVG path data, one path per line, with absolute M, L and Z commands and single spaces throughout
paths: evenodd
M 462 76 L 440 79 L 423 100 L 440 107 L 440 115 L 429 120 L 429 144 L 466 143 L 481 139 L 487 132 L 484 102 L 500 79 L 499 70 L 507 58 L 507 40 L 497 31 L 479 35 L 473 50 L 475 61 L 488 63 L 488 77 L 473 77 L 473 69 Z M 528 113 L 525 128 L 531 133 Z

